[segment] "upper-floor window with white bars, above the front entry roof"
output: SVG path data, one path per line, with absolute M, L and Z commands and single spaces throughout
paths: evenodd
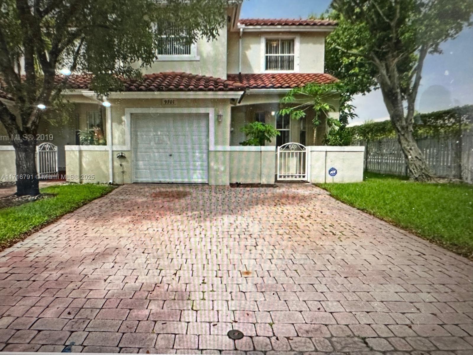
M 264 60 L 266 71 L 294 71 L 294 39 L 266 38 Z

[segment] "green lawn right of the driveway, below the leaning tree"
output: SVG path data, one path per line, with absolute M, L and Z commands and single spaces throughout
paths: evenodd
M 473 257 L 473 186 L 416 183 L 365 173 L 351 184 L 320 184 L 336 199 Z

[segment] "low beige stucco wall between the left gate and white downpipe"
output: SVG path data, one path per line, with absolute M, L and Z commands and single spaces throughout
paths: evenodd
M 108 183 L 108 151 L 66 151 L 68 182 Z

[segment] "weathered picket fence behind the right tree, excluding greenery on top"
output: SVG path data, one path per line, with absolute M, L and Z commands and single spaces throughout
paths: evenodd
M 436 176 L 473 184 L 473 131 L 458 136 L 421 138 L 417 144 Z M 406 161 L 396 138 L 360 141 L 355 145 L 365 146 L 366 171 L 407 175 Z

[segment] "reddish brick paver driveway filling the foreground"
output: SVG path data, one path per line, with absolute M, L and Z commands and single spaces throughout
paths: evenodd
M 0 260 L 3 351 L 472 354 L 472 264 L 309 185 L 122 186 Z

